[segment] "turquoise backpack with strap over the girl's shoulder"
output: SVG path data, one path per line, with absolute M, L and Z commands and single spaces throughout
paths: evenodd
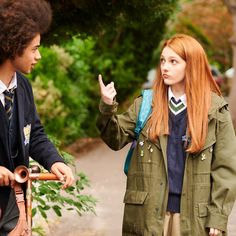
M 137 140 L 139 138 L 139 135 L 140 135 L 144 125 L 146 124 L 149 115 L 152 112 L 152 94 L 153 94 L 153 92 L 151 89 L 145 89 L 142 91 L 143 99 L 142 99 L 142 103 L 141 103 L 140 110 L 138 113 L 138 119 L 136 122 L 136 126 L 134 129 L 134 140 L 133 140 L 131 147 L 127 153 L 127 156 L 125 159 L 125 164 L 124 164 L 124 172 L 126 175 L 129 170 L 131 157 L 132 157 L 134 148 L 137 145 Z

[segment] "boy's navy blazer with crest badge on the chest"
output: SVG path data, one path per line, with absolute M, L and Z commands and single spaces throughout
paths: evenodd
M 17 72 L 15 101 L 18 107 L 19 159 L 17 163 L 29 166 L 29 157 L 33 158 L 47 170 L 55 162 L 64 162 L 54 145 L 44 133 L 43 126 L 36 112 L 32 87 L 29 81 Z M 10 157 L 8 141 L 8 117 L 0 102 L 0 166 L 12 172 L 13 163 Z M 0 207 L 8 200 L 10 187 L 0 187 Z

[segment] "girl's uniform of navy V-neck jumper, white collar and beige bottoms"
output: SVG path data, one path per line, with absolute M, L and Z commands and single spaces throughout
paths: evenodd
M 169 87 L 169 130 L 167 166 L 169 194 L 163 236 L 180 236 L 180 204 L 186 160 L 187 101 L 186 95 L 176 98 Z

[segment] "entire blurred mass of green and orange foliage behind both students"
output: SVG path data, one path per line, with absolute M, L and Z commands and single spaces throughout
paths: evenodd
M 231 67 L 227 39 L 232 23 L 223 0 L 50 3 L 53 24 L 43 37 L 42 60 L 30 79 L 45 129 L 63 145 L 98 136 L 97 75 L 101 73 L 105 83 L 114 81 L 118 102 L 129 105 L 147 72 L 156 67 L 166 37 L 190 34 L 203 44 L 212 64 L 222 70 Z

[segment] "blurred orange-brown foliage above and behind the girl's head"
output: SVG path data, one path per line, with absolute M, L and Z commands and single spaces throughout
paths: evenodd
M 193 0 L 181 4 L 170 31 L 197 38 L 207 52 L 211 64 L 225 71 L 232 66 L 232 16 L 224 0 Z M 170 24 L 169 24 L 170 25 Z

